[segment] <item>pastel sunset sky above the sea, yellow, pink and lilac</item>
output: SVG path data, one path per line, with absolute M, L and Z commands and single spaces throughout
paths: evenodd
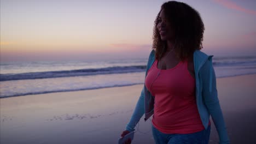
M 1 0 L 1 62 L 146 58 L 165 1 Z M 205 23 L 203 52 L 256 55 L 256 1 L 187 0 Z

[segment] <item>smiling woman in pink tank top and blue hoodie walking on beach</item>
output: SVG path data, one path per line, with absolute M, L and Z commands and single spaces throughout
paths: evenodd
M 162 4 L 155 20 L 145 84 L 121 137 L 152 116 L 155 143 L 208 143 L 213 119 L 220 143 L 230 143 L 219 105 L 212 56 L 201 52 L 205 27 L 189 5 Z M 131 143 L 131 140 L 126 141 Z

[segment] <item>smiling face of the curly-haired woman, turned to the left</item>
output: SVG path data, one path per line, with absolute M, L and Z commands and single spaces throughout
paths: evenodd
M 164 9 L 158 18 L 158 32 L 161 35 L 161 40 L 173 40 L 174 39 L 174 29 L 171 27 L 171 23 L 165 18 Z

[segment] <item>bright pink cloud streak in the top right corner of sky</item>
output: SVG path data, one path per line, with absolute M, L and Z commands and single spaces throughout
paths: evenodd
M 234 10 L 242 11 L 242 12 L 247 13 L 247 14 L 256 15 L 255 10 L 250 10 L 250 9 L 243 8 L 240 5 L 237 5 L 236 3 L 231 2 L 229 0 L 213 0 L 213 1 L 217 2 L 221 5 L 224 5 L 225 7 L 229 8 L 229 9 L 234 9 Z

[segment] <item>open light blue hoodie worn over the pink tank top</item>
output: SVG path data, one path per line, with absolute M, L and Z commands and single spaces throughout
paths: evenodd
M 228 133 L 219 105 L 218 93 L 216 88 L 216 76 L 212 66 L 212 57 L 196 50 L 193 55 L 195 79 L 196 79 L 196 104 L 200 118 L 205 129 L 208 127 L 210 115 L 219 134 L 219 143 L 230 143 Z M 150 67 L 155 61 L 155 51 L 149 55 L 146 76 Z M 138 99 L 135 110 L 133 111 L 130 122 L 126 125 L 126 130 L 135 130 L 139 119 L 145 114 L 144 121 L 154 113 L 154 98 L 144 85 L 141 96 Z

